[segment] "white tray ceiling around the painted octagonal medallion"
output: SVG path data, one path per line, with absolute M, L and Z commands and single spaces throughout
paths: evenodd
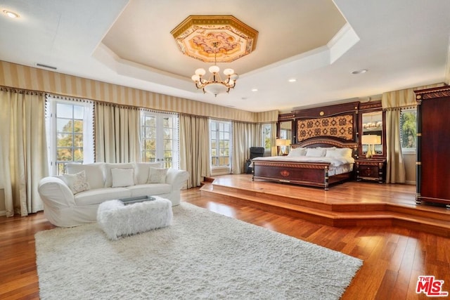
M 449 81 L 448 0 L 215 3 L 2 0 L 0 60 L 252 112 Z M 195 89 L 191 74 L 208 65 L 184 56 L 170 34 L 188 15 L 234 15 L 259 32 L 249 56 L 219 64 L 240 75 L 228 95 Z M 368 72 L 351 74 L 361 69 Z

